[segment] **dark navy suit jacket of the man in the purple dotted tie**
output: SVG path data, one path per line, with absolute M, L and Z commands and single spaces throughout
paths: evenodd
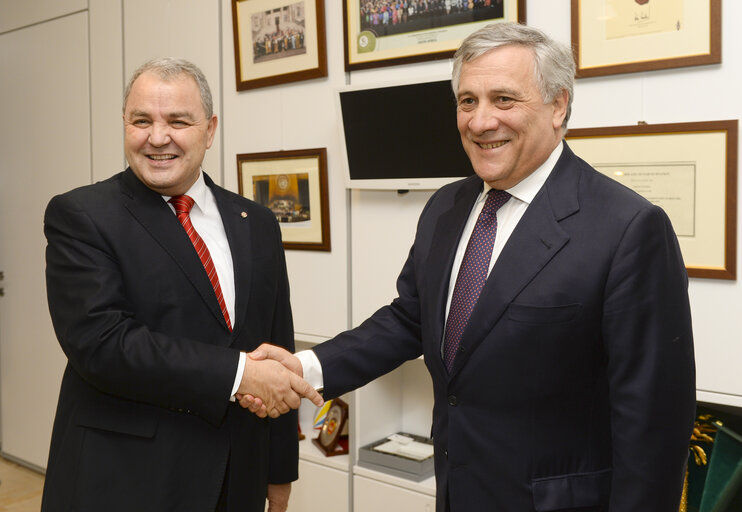
M 423 210 L 399 296 L 315 347 L 325 397 L 424 354 L 438 510 L 677 511 L 695 411 L 687 273 L 665 213 L 566 146 L 485 284 L 449 375 L 454 253 L 481 180 Z

